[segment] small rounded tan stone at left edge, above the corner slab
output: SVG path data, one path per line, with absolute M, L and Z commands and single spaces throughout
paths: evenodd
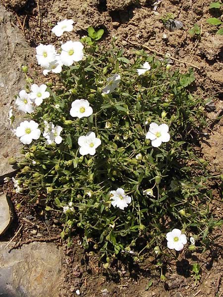
M 0 195 L 0 235 L 5 232 L 11 222 L 11 205 L 5 194 Z

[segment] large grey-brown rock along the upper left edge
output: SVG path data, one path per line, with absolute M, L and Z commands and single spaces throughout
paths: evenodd
M 21 66 L 28 63 L 31 53 L 22 33 L 13 26 L 12 14 L 0 4 L 0 181 L 15 170 L 8 164 L 8 158 L 18 157 L 21 148 L 7 116 L 14 96 L 25 86 Z

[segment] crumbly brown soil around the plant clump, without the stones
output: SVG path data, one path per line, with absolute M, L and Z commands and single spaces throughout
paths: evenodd
M 10 1 L 7 1 L 7 3 Z M 115 35 L 117 45 L 126 49 L 126 54 L 132 48 L 150 47 L 163 54 L 170 53 L 174 58 L 183 62 L 174 62 L 173 67 L 182 72 L 187 71 L 189 62 L 195 68 L 196 86 L 193 92 L 203 99 L 212 99 L 212 111 L 208 112 L 209 127 L 202 140 L 204 158 L 210 161 L 212 172 L 223 173 L 223 37 L 213 31 L 213 27 L 206 23 L 211 17 L 209 4 L 212 0 L 163 0 L 158 7 L 159 15 L 152 10 L 152 1 L 143 1 L 144 4 L 131 5 L 124 10 L 108 11 L 105 0 L 28 0 L 25 7 L 13 11 L 15 23 L 23 31 L 28 43 L 36 47 L 39 43 L 54 43 L 60 41 L 51 34 L 51 24 L 64 18 L 74 20 L 72 38 L 78 39 L 86 35 L 86 28 L 104 28 L 105 35 L 101 44 L 108 47 L 111 37 Z M 10 9 L 9 6 L 7 6 Z M 173 13 L 175 19 L 183 22 L 181 30 L 169 32 L 163 25 L 161 17 Z M 201 26 L 201 36 L 191 38 L 188 31 L 195 23 Z M 163 34 L 167 38 L 163 38 Z M 141 47 L 133 46 L 138 43 Z M 148 53 L 150 53 L 148 51 Z M 33 67 L 35 66 L 35 60 Z M 38 78 L 40 80 L 40 78 Z M 207 106 L 210 110 L 210 106 Z M 5 191 L 11 193 L 10 187 Z M 213 193 L 215 199 L 211 205 L 213 215 L 222 217 L 221 198 Z M 12 195 L 14 206 L 20 203 L 23 197 Z M 75 291 L 80 290 L 83 297 L 221 297 L 223 296 L 222 280 L 222 231 L 215 231 L 214 237 L 219 236 L 215 243 L 206 251 L 182 252 L 177 259 L 166 263 L 166 281 L 160 280 L 159 267 L 155 265 L 157 259 L 148 255 L 144 262 L 134 263 L 118 261 L 112 263 L 111 270 L 105 270 L 97 256 L 85 253 L 78 245 L 79 238 L 74 237 L 74 245 L 67 248 L 55 239 L 60 233 L 58 218 L 48 217 L 40 204 L 33 206 L 21 204 L 15 207 L 15 220 L 8 236 L 2 240 L 10 240 L 16 230 L 23 225 L 22 231 L 13 239 L 23 244 L 24 241 L 52 240 L 58 247 L 64 249 L 64 279 L 61 283 L 60 296 L 77 296 Z M 190 276 L 193 263 L 201 266 L 201 280 L 194 285 Z M 149 281 L 153 285 L 146 291 Z M 104 291 L 103 291 L 104 290 Z

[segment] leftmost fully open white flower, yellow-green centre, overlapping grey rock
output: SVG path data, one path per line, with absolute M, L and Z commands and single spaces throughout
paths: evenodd
M 38 126 L 33 120 L 21 122 L 19 127 L 16 128 L 15 135 L 20 138 L 21 143 L 29 145 L 33 139 L 36 140 L 40 137 L 41 132 Z

